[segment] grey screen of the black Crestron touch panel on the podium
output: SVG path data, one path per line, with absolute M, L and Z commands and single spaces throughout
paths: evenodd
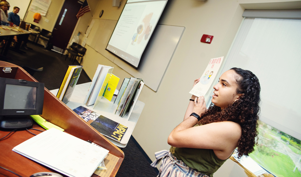
M 37 88 L 6 84 L 3 109 L 36 109 Z

